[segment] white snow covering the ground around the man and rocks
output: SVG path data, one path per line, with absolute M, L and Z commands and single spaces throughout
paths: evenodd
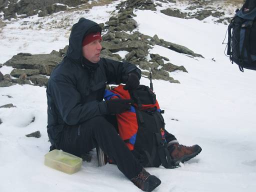
M 68 29 L 79 17 L 105 22 L 117 2 L 79 14 L 60 12 L 44 18 L 13 20 L 0 34 L 0 63 L 18 52 L 49 53 L 63 48 L 68 44 Z M 170 17 L 159 10 L 137 10 L 135 14 L 140 32 L 157 34 L 205 57 L 191 58 L 158 45 L 150 50 L 187 69 L 188 73 L 170 73 L 180 84 L 153 80 L 154 91 L 160 107 L 165 109 L 167 130 L 181 144 L 202 147 L 198 156 L 179 168 L 146 168 L 162 181 L 155 191 L 255 191 L 256 71 L 245 69 L 242 73 L 224 56 L 225 45 L 221 42 L 227 25 Z M 50 22 L 64 16 L 69 18 L 66 28 L 19 29 L 23 21 Z M 0 71 L 5 74 L 11 69 L 3 66 Z M 142 78 L 141 83 L 149 81 Z M 49 147 L 45 87 L 0 87 L 0 106 L 7 103 L 16 107 L 0 108 L 1 192 L 140 191 L 115 165 L 97 167 L 95 152 L 91 162 L 83 162 L 81 170 L 72 175 L 43 164 Z M 33 116 L 34 122 L 29 123 Z M 35 130 L 40 130 L 40 138 L 25 137 Z

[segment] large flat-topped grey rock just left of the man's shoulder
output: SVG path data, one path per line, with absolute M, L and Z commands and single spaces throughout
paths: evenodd
M 20 69 L 38 69 L 40 74 L 50 75 L 51 70 L 62 60 L 55 54 L 14 55 L 3 65 Z

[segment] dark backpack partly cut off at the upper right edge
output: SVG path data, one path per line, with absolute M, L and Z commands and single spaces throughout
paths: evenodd
M 228 25 L 227 55 L 240 71 L 256 70 L 256 0 L 246 0 Z

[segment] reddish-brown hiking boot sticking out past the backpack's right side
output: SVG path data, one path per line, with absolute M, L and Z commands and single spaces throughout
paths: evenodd
M 199 152 L 201 152 L 202 149 L 198 144 L 193 146 L 185 146 L 182 144 L 174 143 L 168 146 L 168 150 L 170 151 L 170 156 L 174 165 L 177 166 L 179 162 L 183 163 L 184 161 L 195 157 L 197 154 L 199 154 Z

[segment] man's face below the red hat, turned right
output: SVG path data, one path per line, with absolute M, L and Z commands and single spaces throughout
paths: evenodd
M 86 44 L 82 47 L 82 54 L 90 62 L 96 63 L 99 61 L 100 50 L 102 46 L 100 45 L 99 39 L 91 41 L 89 44 Z

